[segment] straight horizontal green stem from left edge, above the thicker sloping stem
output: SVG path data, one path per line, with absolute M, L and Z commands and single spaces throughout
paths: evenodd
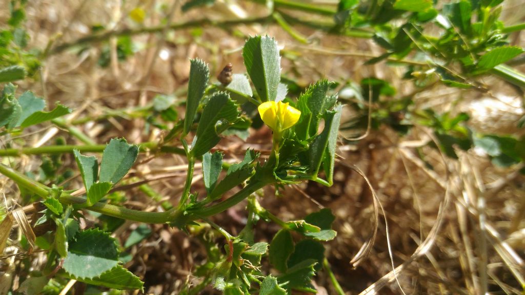
M 139 144 L 140 151 L 154 150 L 158 148 L 156 142 L 145 142 Z M 64 154 L 72 153 L 73 150 L 79 150 L 81 153 L 100 153 L 106 149 L 106 144 L 89 144 L 89 145 L 46 145 L 39 148 L 24 148 L 24 149 L 3 149 L 0 150 L 0 156 L 20 156 L 20 155 L 38 155 L 38 154 Z M 160 147 L 160 152 L 185 155 L 183 149 L 177 146 Z

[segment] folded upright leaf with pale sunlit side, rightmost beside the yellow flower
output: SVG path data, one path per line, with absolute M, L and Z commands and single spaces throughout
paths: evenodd
M 310 157 L 310 175 L 317 175 L 321 162 L 324 159 L 324 154 L 329 148 L 329 141 L 337 139 L 337 132 L 339 130 L 339 121 L 341 118 L 341 110 L 328 111 L 323 115 L 324 128 L 321 134 L 317 135 L 313 142 L 310 144 L 309 157 Z M 334 133 L 335 132 L 335 133 Z M 331 149 L 332 147 L 330 147 Z M 335 142 L 333 142 L 334 154 L 335 154 Z M 331 157 L 333 158 L 333 157 Z M 330 159 L 330 161 L 333 161 Z M 330 163 L 330 167 L 333 164 Z M 331 176 L 329 175 L 331 179 Z

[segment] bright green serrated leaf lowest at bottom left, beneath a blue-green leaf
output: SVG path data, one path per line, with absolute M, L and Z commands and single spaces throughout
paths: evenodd
M 79 278 L 72 276 L 71 273 L 67 272 L 59 272 L 59 275 L 70 279 L 76 279 L 90 285 L 118 290 L 142 290 L 144 286 L 144 282 L 142 282 L 139 277 L 133 275 L 133 273 L 123 268 L 121 265 L 117 265 L 116 267 L 113 267 L 112 269 L 102 273 L 100 276 L 94 278 Z

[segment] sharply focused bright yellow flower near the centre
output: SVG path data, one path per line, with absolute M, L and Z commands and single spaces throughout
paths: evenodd
M 301 111 L 288 105 L 288 102 L 267 101 L 258 107 L 263 122 L 274 132 L 281 132 L 295 125 L 301 117 Z

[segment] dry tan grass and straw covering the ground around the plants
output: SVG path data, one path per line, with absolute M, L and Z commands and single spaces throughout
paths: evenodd
M 97 24 L 104 24 L 107 29 L 136 27 L 137 24 L 130 22 L 126 16 L 138 3 L 85 0 L 29 3 L 27 28 L 31 46 L 45 48 L 51 39 L 55 39 L 57 44 L 76 40 L 88 34 L 90 26 Z M 161 3 L 146 1 L 140 4 L 148 14 L 145 26 L 161 24 Z M 170 12 L 172 3 L 165 4 Z M 519 0 L 505 4 L 503 15 L 506 23 L 523 20 L 522 12 L 521 15 L 513 13 L 519 5 L 522 5 Z M 261 6 L 249 3 L 241 6 L 247 14 L 259 12 L 262 15 Z M 0 3 L 0 7 L 6 7 L 6 4 Z M 206 8 L 187 15 L 175 9 L 171 19 L 173 22 L 203 16 L 228 19 L 237 17 L 235 13 L 238 14 L 223 1 L 217 1 L 213 9 Z M 0 19 L 5 18 L 5 14 L 0 14 Z M 238 32 L 235 33 L 235 30 Z M 207 27 L 197 37 L 190 30 L 162 31 L 134 36 L 133 40 L 140 50 L 125 62 L 117 62 L 114 58 L 116 41 L 112 40 L 113 58 L 108 68 L 97 65 L 100 46 L 88 47 L 78 55 L 65 51 L 50 56 L 44 62 L 41 76 L 22 83 L 20 88 L 45 96 L 51 105 L 60 101 L 71 107 L 75 112 L 70 120 L 98 118 L 113 109 L 142 107 L 158 93 L 175 93 L 178 100 L 184 100 L 189 58 L 206 60 L 212 73 L 218 73 L 228 62 L 233 64 L 234 72 L 243 72 L 240 48 L 244 38 L 235 35 L 269 34 L 284 46 L 283 72 L 302 85 L 324 77 L 336 81 L 359 81 L 363 77 L 376 76 L 392 82 L 398 89 L 396 97 L 401 98 L 414 91 L 411 81 L 401 79 L 401 68 L 385 64 L 363 66 L 366 58 L 359 57 L 359 52 L 374 56 L 381 54 L 381 49 L 372 41 L 325 36 L 304 28 L 299 30 L 313 40 L 314 44 L 309 47 L 320 48 L 323 53 L 307 50 L 275 26 L 242 25 L 230 32 Z M 515 44 L 524 45 L 524 34 L 516 34 L 512 38 Z M 358 54 L 343 56 L 330 54 L 330 50 Z M 168 52 L 169 56 L 161 59 L 161 52 Z M 523 113 L 519 103 L 515 103 L 520 99 L 519 94 L 494 78 L 484 78 L 484 82 L 489 86 L 490 93 L 482 94 L 482 99 L 480 93 L 475 91 L 434 85 L 417 93 L 414 101 L 421 108 L 467 111 L 475 123 L 473 127 L 480 131 L 520 132 L 513 129 L 516 118 Z M 478 104 L 481 102 L 486 104 L 480 107 Z M 490 112 L 480 111 L 483 108 Z M 183 112 L 183 109 L 179 111 Z M 352 110 L 345 111 L 349 116 L 358 115 Z M 117 136 L 124 136 L 132 143 L 162 137 L 156 130 L 146 131 L 146 127 L 143 119 L 126 116 L 91 120 L 78 126 L 96 143 L 105 143 Z M 80 144 L 67 132 L 55 127 L 30 131 L 35 132 L 10 143 L 15 146 L 40 146 L 52 144 L 53 136 L 61 135 L 70 144 Z M 3 139 L 4 143 L 9 140 Z M 285 220 L 304 217 L 320 206 L 332 209 L 337 216 L 334 227 L 338 236 L 325 245 L 326 254 L 335 276 L 348 294 L 400 294 L 400 287 L 406 294 L 482 294 L 486 291 L 520 294 L 521 286 L 525 284 L 525 178 L 516 172 L 520 167 L 495 168 L 485 156 L 475 151 L 461 152 L 458 161 L 444 159 L 443 155 L 426 145 L 433 140 L 432 134 L 422 127 L 414 128 L 404 137 L 386 127 L 373 130 L 359 142 L 341 143 L 332 187 L 303 183 L 288 187 L 279 196 L 275 196 L 273 189 L 267 188 L 261 204 Z M 227 159 L 238 160 L 248 147 L 268 151 L 271 148 L 270 134 L 264 129 L 251 130 L 246 143 L 231 138 L 223 140 L 218 149 L 225 151 Z M 425 154 L 425 160 L 433 166 L 432 170 L 416 156 L 416 149 Z M 156 155 L 150 159 L 149 156 L 153 155 L 140 156 L 140 164 L 134 167 L 133 179 L 128 183 L 148 180 L 166 201 L 175 204 L 185 179 L 184 158 Z M 15 162 L 18 170 L 24 172 L 38 171 L 41 163 L 39 156 L 2 161 Z M 72 157 L 66 155 L 62 169 L 70 167 L 75 169 L 76 165 Z M 366 177 L 360 175 L 358 169 Z M 198 175 L 198 170 L 196 173 Z M 69 188 L 81 187 L 78 174 L 75 176 L 65 185 Z M 0 177 L 0 188 L 11 204 L 22 202 L 16 186 L 5 177 Z M 204 193 L 198 176 L 194 178 L 192 190 Z M 124 192 L 128 199 L 124 206 L 143 210 L 159 208 L 158 203 L 142 194 L 136 186 L 129 186 Z M 236 234 L 243 227 L 244 215 L 243 205 L 239 205 L 214 220 Z M 377 225 L 375 241 L 368 244 L 369 249 L 365 249 L 365 252 L 370 252 L 366 257 L 354 260 L 359 263 L 353 268 L 350 261 L 374 237 L 374 225 Z M 136 226 L 126 222 L 114 236 L 124 241 Z M 186 282 L 198 283 L 192 273 L 195 266 L 206 258 L 199 240 L 209 236 L 202 233 L 187 236 L 165 225 L 152 225 L 151 228 L 153 235 L 132 248 L 133 260 L 125 265 L 145 281 L 145 291 L 177 293 Z M 11 237 L 19 239 L 17 233 L 22 229 L 18 227 Z M 256 238 L 269 241 L 277 230 L 276 225 L 260 222 Z M 222 243 L 220 239 L 219 243 Z M 18 252 L 16 242 L 13 245 L 8 247 L 6 253 Z M 396 267 L 395 275 L 389 246 Z M 43 253 L 31 255 L 36 269 L 45 262 L 44 257 Z M 0 281 L 9 277 L 16 288 L 19 284 L 17 264 L 22 262 L 15 258 L 12 256 L 0 261 L 0 270 L 4 273 Z M 320 272 L 316 282 L 320 294 L 334 293 L 328 276 L 323 272 Z M 80 289 L 77 288 L 76 292 Z M 207 288 L 203 293 L 214 291 Z

